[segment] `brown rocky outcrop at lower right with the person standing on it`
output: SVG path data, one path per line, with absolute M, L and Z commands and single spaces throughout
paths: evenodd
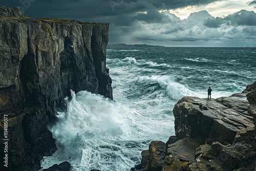
M 256 170 L 256 81 L 229 97 L 183 97 L 173 112 L 176 136 L 151 142 L 137 170 Z

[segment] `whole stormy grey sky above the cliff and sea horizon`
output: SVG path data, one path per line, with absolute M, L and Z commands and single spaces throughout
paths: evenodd
M 256 1 L 2 0 L 30 17 L 110 23 L 109 44 L 256 47 Z

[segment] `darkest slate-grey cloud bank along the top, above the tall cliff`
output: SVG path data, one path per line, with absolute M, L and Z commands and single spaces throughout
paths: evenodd
M 147 10 L 175 9 L 189 5 L 203 5 L 220 0 L 20 0 L 1 1 L 1 5 L 24 7 L 27 15 L 49 17 L 69 17 L 73 19 L 98 18 L 101 16 L 135 15 Z

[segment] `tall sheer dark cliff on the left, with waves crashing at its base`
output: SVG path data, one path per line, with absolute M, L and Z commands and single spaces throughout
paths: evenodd
M 56 150 L 47 125 L 66 110 L 63 98 L 71 89 L 113 99 L 108 35 L 109 24 L 29 18 L 17 7 L 0 8 L 0 144 L 4 151 L 6 117 L 9 170 L 38 169 Z

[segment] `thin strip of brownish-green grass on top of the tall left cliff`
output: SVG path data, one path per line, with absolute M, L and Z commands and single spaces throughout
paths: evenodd
M 90 22 L 81 22 L 73 19 L 61 19 L 61 18 L 18 18 L 18 17 L 1 17 L 0 20 L 8 23 L 19 23 L 22 20 L 39 20 L 41 22 L 53 22 L 53 23 L 64 23 L 64 24 L 80 24 L 80 25 L 106 25 L 106 23 L 90 23 Z

